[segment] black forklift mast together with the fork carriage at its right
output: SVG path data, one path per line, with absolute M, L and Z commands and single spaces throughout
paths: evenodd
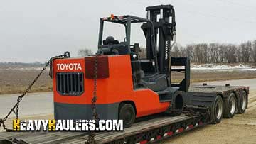
M 151 47 L 150 35 L 148 31 L 149 23 L 143 23 L 142 30 L 146 37 L 146 58 L 154 60 L 157 57 L 159 74 L 166 74 L 169 87 L 179 87 L 180 91 L 188 92 L 190 85 L 190 60 L 188 57 L 171 57 L 171 47 L 175 44 L 176 21 L 175 11 L 172 5 L 159 5 L 146 7 L 147 19 L 154 25 L 154 35 L 157 47 L 156 55 Z M 173 43 L 171 43 L 173 41 Z M 181 68 L 171 69 L 171 66 Z M 184 79 L 180 83 L 171 83 L 171 72 L 183 72 Z

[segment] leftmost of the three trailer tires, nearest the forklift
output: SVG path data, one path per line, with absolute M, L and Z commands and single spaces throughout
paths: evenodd
M 216 96 L 213 106 L 211 107 L 210 120 L 212 124 L 220 123 L 223 118 L 223 108 L 223 99 L 218 95 Z

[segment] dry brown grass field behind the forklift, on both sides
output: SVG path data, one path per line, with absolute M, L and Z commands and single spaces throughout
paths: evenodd
M 22 93 L 30 84 L 40 70 L 36 69 L 8 69 L 0 67 L 0 94 Z M 174 73 L 173 82 L 178 82 L 182 78 L 181 73 Z M 227 79 L 251 79 L 256 78 L 255 71 L 207 71 L 191 72 L 191 82 L 204 82 Z M 48 70 L 42 74 L 38 82 L 30 92 L 48 92 L 52 90 L 52 80 L 48 76 Z

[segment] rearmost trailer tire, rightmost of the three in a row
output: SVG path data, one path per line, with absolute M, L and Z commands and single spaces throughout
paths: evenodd
M 248 104 L 247 94 L 246 94 L 245 91 L 242 91 L 240 96 L 238 97 L 238 113 L 239 114 L 245 113 L 245 110 L 247 108 L 247 104 Z

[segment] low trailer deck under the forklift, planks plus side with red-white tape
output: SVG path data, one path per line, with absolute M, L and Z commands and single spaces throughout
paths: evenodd
M 195 119 L 197 120 L 196 123 Z M 181 124 L 182 123 L 182 124 Z M 186 123 L 186 124 L 184 124 Z M 148 121 L 134 123 L 122 132 L 99 132 L 95 136 L 97 143 L 146 143 L 161 140 L 183 131 L 203 126 L 200 116 L 160 116 Z M 164 130 L 163 128 L 166 127 Z M 160 131 L 161 130 L 161 131 Z M 0 143 L 85 143 L 87 132 L 1 132 Z M 11 140 L 11 141 L 9 141 Z

